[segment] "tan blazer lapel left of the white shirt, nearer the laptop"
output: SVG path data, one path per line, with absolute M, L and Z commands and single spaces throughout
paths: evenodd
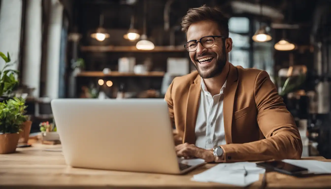
M 186 106 L 185 132 L 183 142 L 195 144 L 195 124 L 197 121 L 198 106 L 201 94 L 201 77 L 198 75 L 190 85 Z

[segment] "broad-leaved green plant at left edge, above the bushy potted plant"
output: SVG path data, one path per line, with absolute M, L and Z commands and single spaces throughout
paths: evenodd
M 19 71 L 9 69 L 14 63 L 10 63 L 9 53 L 7 56 L 0 52 L 0 57 L 5 61 L 5 66 L 0 70 L 0 102 L 12 97 L 13 90 L 19 85 L 17 79 Z

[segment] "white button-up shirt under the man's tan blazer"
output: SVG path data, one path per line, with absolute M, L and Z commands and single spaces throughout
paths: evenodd
M 223 98 L 226 81 L 219 94 L 212 96 L 201 78 L 201 95 L 195 125 L 195 145 L 204 149 L 226 144 L 223 117 Z

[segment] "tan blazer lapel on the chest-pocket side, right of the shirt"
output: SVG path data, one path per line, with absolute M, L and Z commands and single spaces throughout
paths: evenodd
M 232 143 L 232 120 L 233 120 L 233 106 L 234 98 L 236 96 L 238 86 L 238 70 L 231 63 L 229 63 L 229 76 L 226 81 L 223 101 L 223 116 L 224 116 L 224 131 L 225 140 L 227 144 Z

